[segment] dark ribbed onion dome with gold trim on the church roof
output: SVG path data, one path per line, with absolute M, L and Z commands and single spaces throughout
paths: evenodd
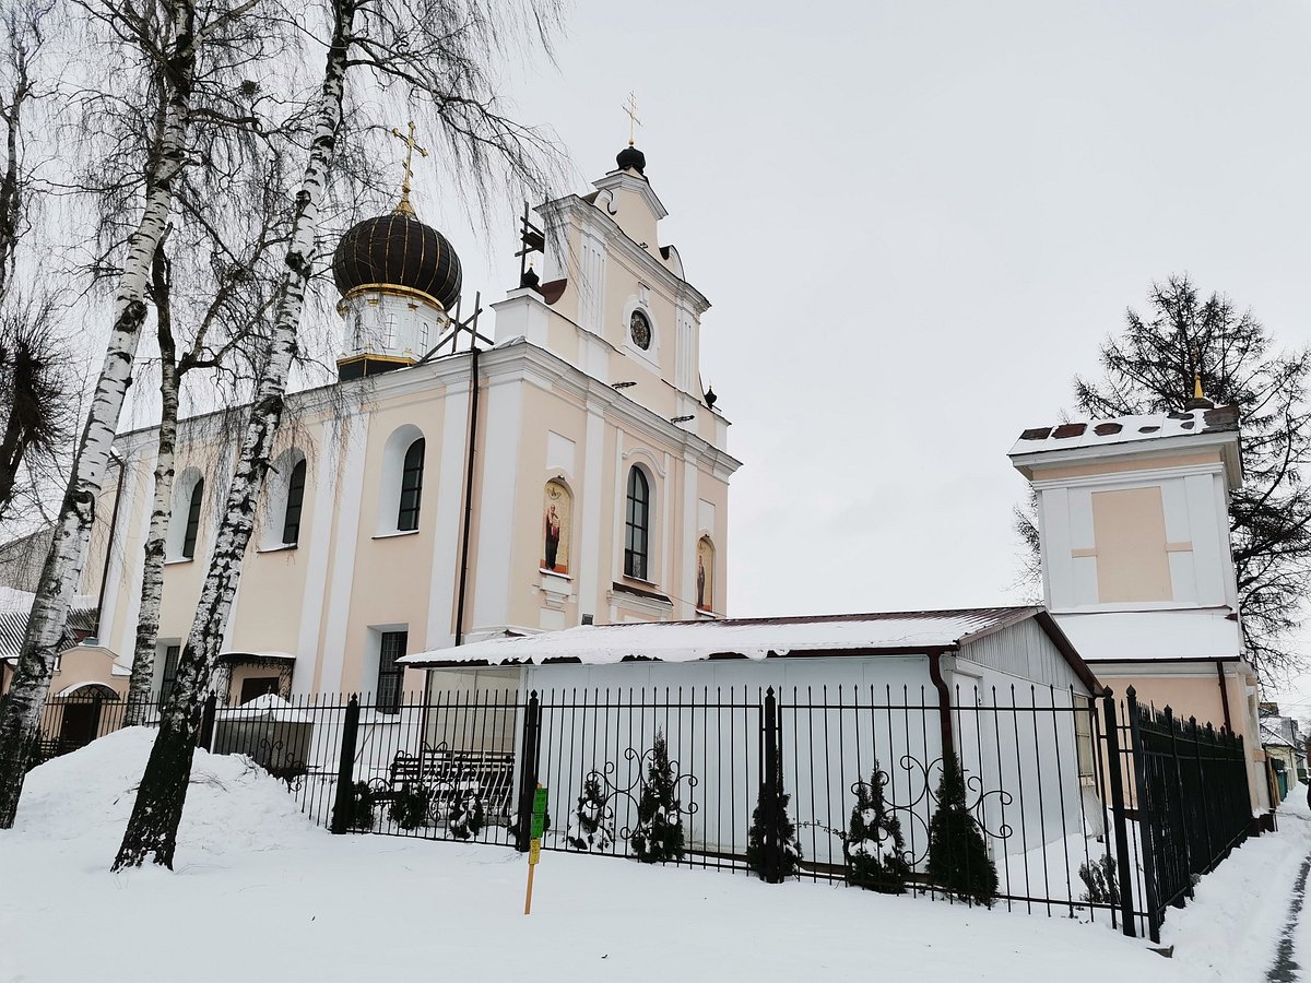
M 342 296 L 361 287 L 402 287 L 443 311 L 460 296 L 460 257 L 446 236 L 401 211 L 347 229 L 333 253 L 332 277 Z

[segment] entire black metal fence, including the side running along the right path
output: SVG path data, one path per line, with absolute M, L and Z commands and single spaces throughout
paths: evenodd
M 50 700 L 34 761 L 153 722 L 153 705 L 135 709 Z M 1141 706 L 1133 689 L 1117 704 L 970 688 L 947 708 L 933 689 L 886 685 L 211 699 L 201 743 L 249 755 L 334 832 L 526 849 L 541 784 L 545 849 L 652 858 L 659 839 L 666 862 L 850 882 L 872 849 L 903 864 L 884 889 L 1109 919 L 1158 941 L 1165 910 L 1252 818 L 1242 738 Z M 931 844 L 953 817 L 982 843 L 973 862 L 995 869 L 990 890 L 944 879 Z

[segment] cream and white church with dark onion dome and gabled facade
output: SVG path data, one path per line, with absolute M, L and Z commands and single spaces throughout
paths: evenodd
M 459 258 L 408 197 L 342 236 L 340 380 L 288 400 L 224 640 L 225 699 L 395 695 L 421 685 L 397 666 L 406 651 L 724 612 L 739 463 L 701 388 L 709 301 L 659 245 L 645 157 L 625 148 L 589 194 L 538 214 L 523 232 L 543 274 L 527 269 L 492 304 L 480 351 L 452 318 Z M 101 596 L 100 645 L 125 663 L 155 442 L 155 429 L 118 438 L 83 585 Z M 159 687 L 190 628 L 231 453 L 223 415 L 182 423 Z M 54 691 L 77 682 L 56 676 Z

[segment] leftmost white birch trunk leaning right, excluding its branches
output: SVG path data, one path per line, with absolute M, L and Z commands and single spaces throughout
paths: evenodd
M 156 151 L 149 161 L 146 207 L 127 245 L 123 275 L 114 299 L 114 322 L 105 350 L 105 363 L 59 509 L 37 599 L 28 619 L 22 654 L 9 696 L 0 708 L 0 830 L 13 826 L 18 809 L 28 751 L 38 737 L 59 640 L 63 637 L 68 607 L 87 558 L 96 499 L 109 464 L 123 397 L 131 381 L 132 362 L 146 321 L 143 296 L 151 260 L 168 227 L 173 182 L 186 163 L 185 138 L 195 71 L 194 16 L 190 0 L 173 0 L 168 7 L 168 105 L 157 134 Z

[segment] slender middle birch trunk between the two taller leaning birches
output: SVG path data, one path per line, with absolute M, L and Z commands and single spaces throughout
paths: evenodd
M 164 600 L 164 545 L 173 516 L 173 477 L 177 459 L 178 377 L 169 364 L 160 379 L 160 435 L 155 460 L 155 502 L 146 533 L 142 562 L 142 606 L 136 616 L 136 645 L 132 651 L 132 679 L 127 688 L 125 723 L 144 723 L 149 717 L 155 688 L 155 649 L 160 633 L 160 604 Z

